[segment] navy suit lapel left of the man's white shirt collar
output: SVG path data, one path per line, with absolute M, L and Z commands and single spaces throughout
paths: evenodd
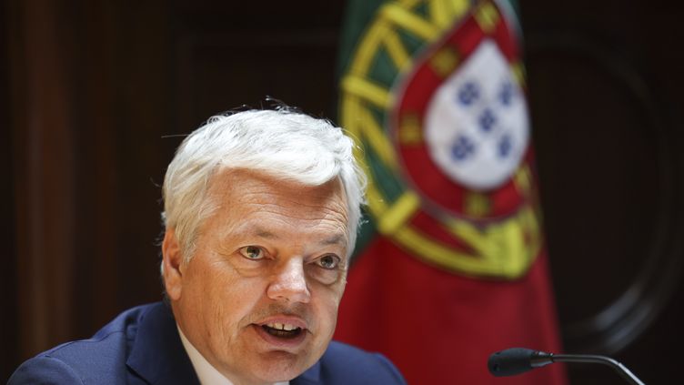
M 134 343 L 126 365 L 138 376 L 151 384 L 199 384 L 166 304 L 152 305 L 128 334 Z

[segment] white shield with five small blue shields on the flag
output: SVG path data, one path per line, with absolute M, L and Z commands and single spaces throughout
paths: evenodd
M 529 140 L 528 105 L 496 43 L 483 41 L 428 104 L 432 160 L 458 184 L 491 190 L 508 181 Z

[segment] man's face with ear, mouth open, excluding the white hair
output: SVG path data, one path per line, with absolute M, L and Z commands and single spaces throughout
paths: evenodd
M 164 241 L 166 291 L 186 338 L 236 383 L 291 380 L 327 349 L 347 273 L 347 203 L 247 170 L 217 174 L 217 209 L 182 262 Z

